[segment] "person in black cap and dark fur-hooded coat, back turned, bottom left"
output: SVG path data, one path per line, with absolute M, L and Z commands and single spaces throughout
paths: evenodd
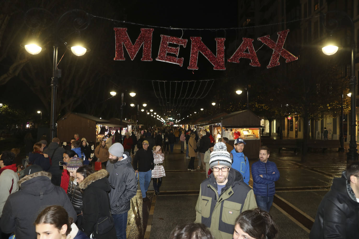
M 51 173 L 32 165 L 25 169 L 25 175 L 19 181 L 21 190 L 12 193 L 5 203 L 1 216 L 3 232 L 15 232 L 17 239 L 35 239 L 34 221 L 39 212 L 51 205 L 64 207 L 69 217 L 76 221 L 69 197 L 61 187 L 51 183 Z

